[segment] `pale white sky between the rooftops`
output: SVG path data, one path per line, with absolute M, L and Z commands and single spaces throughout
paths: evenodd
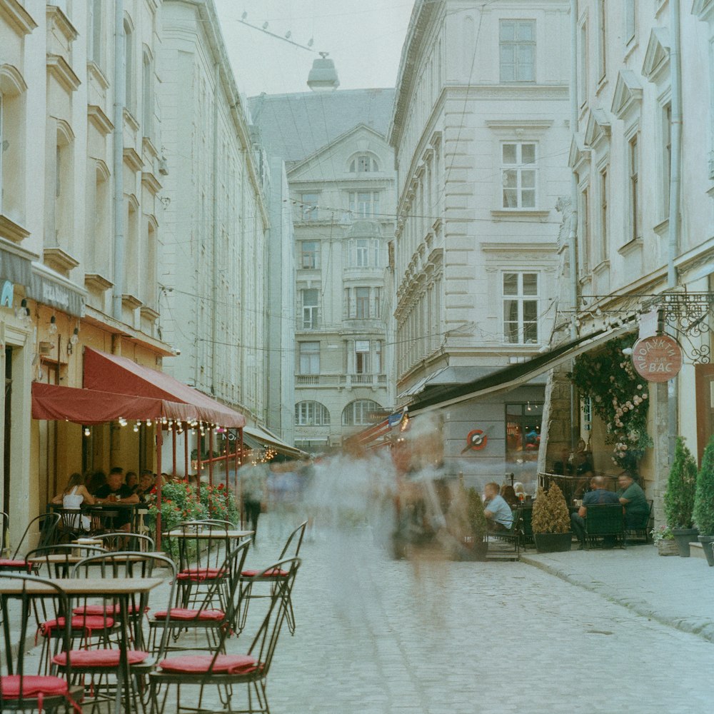
M 310 91 L 308 73 L 318 51 L 330 53 L 340 89 L 396 84 L 413 0 L 214 0 L 238 89 L 254 96 Z M 295 47 L 258 28 L 307 45 Z

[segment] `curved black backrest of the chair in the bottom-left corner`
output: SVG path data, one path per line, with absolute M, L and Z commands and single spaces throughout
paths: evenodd
M 4 657 L 6 673 L 19 675 L 20 677 L 19 691 L 21 693 L 24 691 L 24 677 L 34 676 L 39 673 L 39 671 L 25 672 L 25 655 L 31 650 L 34 643 L 34 638 L 31 635 L 34 635 L 34 628 L 36 627 L 35 613 L 42 611 L 47 615 L 48 619 L 56 620 L 59 623 L 64 621 L 64 627 L 59 625 L 56 628 L 56 636 L 61 640 L 61 648 L 69 650 L 71 646 L 71 618 L 65 618 L 64 615 L 69 610 L 70 600 L 60 585 L 46 578 L 39 578 L 36 575 L 21 575 L 19 573 L 3 573 L 2 577 L 6 582 L 15 581 L 18 585 L 16 592 L 10 594 L 7 592 L 9 588 L 6 588 L 5 592 L 0 595 L 0 610 L 8 613 L 10 611 L 9 603 L 16 603 L 16 607 L 13 607 L 11 611 L 13 621 L 20 628 L 19 638 L 16 648 L 10 647 L 4 650 Z M 64 620 L 59 618 L 64 618 Z M 31 627 L 33 628 L 30 635 L 27 632 L 29 623 L 32 623 Z M 37 661 L 36 658 L 33 661 Z M 67 668 L 67 680 L 71 681 L 71 667 Z M 30 687 L 28 686 L 29 689 Z M 29 700 L 24 706 L 22 705 L 22 700 L 18 704 L 17 698 L 13 698 L 11 701 L 13 707 L 20 711 L 37 708 L 36 698 L 34 698 L 34 706 Z M 3 693 L 0 689 L 0 711 L 4 710 L 3 702 Z M 16 709 L 11 708 L 11 710 L 15 711 Z

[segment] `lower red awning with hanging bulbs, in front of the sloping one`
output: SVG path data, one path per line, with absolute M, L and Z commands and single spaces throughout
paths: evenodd
M 96 389 L 76 389 L 55 384 L 32 384 L 32 418 L 71 421 L 76 424 L 101 424 L 124 418 L 127 421 L 166 417 L 191 421 L 195 410 L 180 404 L 151 397 L 115 394 Z

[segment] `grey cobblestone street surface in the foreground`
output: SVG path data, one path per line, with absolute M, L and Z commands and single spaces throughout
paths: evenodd
M 301 555 L 273 714 L 710 710 L 696 663 L 711 643 L 530 565 L 393 561 L 366 528 L 323 531 Z

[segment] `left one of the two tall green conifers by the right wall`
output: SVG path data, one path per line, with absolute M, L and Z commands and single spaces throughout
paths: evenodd
M 689 544 L 698 535 L 697 529 L 692 527 L 696 486 L 697 462 L 685 445 L 684 438 L 678 436 L 664 505 L 667 525 L 674 535 L 677 549 L 683 558 L 689 557 Z

